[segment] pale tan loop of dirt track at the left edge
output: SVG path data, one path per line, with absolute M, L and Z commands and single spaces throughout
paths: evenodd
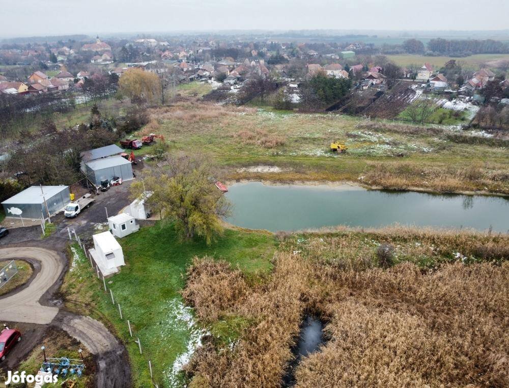
M 39 299 L 59 279 L 65 264 L 55 251 L 39 247 L 0 249 L 0 259 L 29 258 L 41 263 L 41 270 L 28 287 L 0 299 L 0 312 L 6 321 L 49 324 L 57 307 L 41 306 Z

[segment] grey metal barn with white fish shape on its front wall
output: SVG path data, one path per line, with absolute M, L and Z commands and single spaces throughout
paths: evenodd
M 44 198 L 43 198 L 44 193 Z M 18 192 L 15 196 L 2 202 L 5 215 L 8 217 L 23 218 L 44 218 L 48 217 L 46 205 L 48 205 L 49 214 L 55 214 L 61 211 L 71 202 L 69 186 L 30 186 L 25 190 Z M 21 210 L 21 214 L 19 211 Z

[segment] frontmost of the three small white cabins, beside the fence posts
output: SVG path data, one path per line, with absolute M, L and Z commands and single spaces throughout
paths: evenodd
M 92 238 L 94 248 L 89 252 L 103 276 L 119 272 L 119 267 L 125 265 L 124 253 L 119 242 L 109 232 L 94 234 Z

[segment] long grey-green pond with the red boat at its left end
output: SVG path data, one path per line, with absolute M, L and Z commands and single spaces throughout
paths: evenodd
M 509 198 L 367 190 L 352 185 L 235 183 L 226 220 L 249 229 L 295 231 L 346 225 L 509 230 Z

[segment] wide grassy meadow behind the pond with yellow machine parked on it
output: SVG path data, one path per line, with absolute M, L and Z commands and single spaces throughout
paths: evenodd
M 273 181 L 361 181 L 378 165 L 405 165 L 412 181 L 378 180 L 377 186 L 404 189 L 421 187 L 437 191 L 485 190 L 509 193 L 502 179 L 509 156 L 506 142 L 486 142 L 480 137 L 442 127 L 408 126 L 391 122 L 367 122 L 337 114 L 305 114 L 269 108 L 235 107 L 181 99 L 171 106 L 149 109 L 151 122 L 137 134 L 162 133 L 170 152 L 209 155 L 228 179 Z M 442 114 L 441 112 L 437 114 Z M 439 118 L 437 118 L 439 120 Z M 450 120 L 458 120 L 451 117 Z M 451 134 L 458 134 L 451 140 Z M 477 141 L 478 139 L 478 141 Z M 332 141 L 349 149 L 337 154 Z M 279 172 L 260 172 L 270 165 Z M 472 165 L 480 174 L 466 177 Z M 249 171 L 242 168 L 250 167 Z M 254 167 L 254 168 L 252 168 Z M 430 174 L 417 175 L 423 171 Z M 455 183 L 438 185 L 435 171 L 443 171 Z M 440 177 L 440 180 L 442 177 Z M 450 180 L 452 183 L 453 180 Z

